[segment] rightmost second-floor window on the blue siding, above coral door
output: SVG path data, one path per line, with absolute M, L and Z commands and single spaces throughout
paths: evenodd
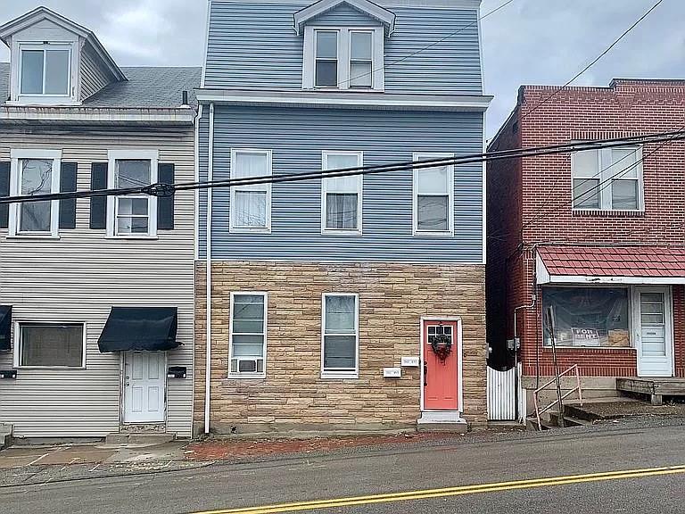
M 414 161 L 450 159 L 454 153 L 414 153 Z M 413 233 L 454 236 L 454 164 L 413 170 Z

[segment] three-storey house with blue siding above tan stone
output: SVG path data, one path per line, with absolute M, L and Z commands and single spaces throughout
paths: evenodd
M 210 0 L 196 432 L 484 425 L 479 9 Z

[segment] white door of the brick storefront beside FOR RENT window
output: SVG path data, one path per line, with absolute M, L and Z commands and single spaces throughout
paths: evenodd
M 671 289 L 636 287 L 633 305 L 638 377 L 673 377 Z

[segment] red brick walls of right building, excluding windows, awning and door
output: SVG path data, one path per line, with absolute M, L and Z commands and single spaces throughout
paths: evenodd
M 493 140 L 491 150 L 515 148 L 518 143 L 524 147 L 556 145 L 573 140 L 630 137 L 685 128 L 685 81 L 617 80 L 611 87 L 567 88 L 546 100 L 555 91 L 557 87 L 523 87 L 519 105 L 508 120 L 509 125 L 518 121 L 519 141 L 509 137 L 505 127 Z M 506 273 L 493 275 L 490 270 L 495 269 L 494 265 L 488 264 L 488 292 L 499 295 L 499 298 L 489 298 L 488 305 L 506 305 L 507 336 L 512 336 L 514 307 L 527 303 L 534 292 L 532 250 L 535 245 L 685 244 L 685 142 L 660 145 L 644 145 L 642 150 L 647 156 L 643 162 L 643 213 L 574 213 L 570 207 L 569 154 L 518 160 L 520 194 L 515 193 L 516 187 L 496 187 L 496 179 L 492 176 L 499 174 L 498 170 L 507 170 L 502 170 L 496 163 L 489 164 L 489 206 L 508 203 L 511 198 L 518 202 L 510 216 L 506 211 L 488 209 L 488 234 L 491 236 L 488 258 L 522 244 L 520 251 L 509 258 Z M 516 228 L 499 230 L 501 225 L 512 222 L 516 223 Z M 529 264 L 524 271 L 526 259 Z M 506 292 L 492 284 L 499 280 L 506 281 Z M 673 287 L 673 314 L 676 374 L 683 377 L 685 291 L 682 286 Z M 501 311 L 489 311 L 488 316 L 489 319 L 501 316 Z M 519 333 L 524 375 L 549 375 L 552 361 L 550 351 L 542 348 L 540 296 L 537 309 L 522 313 Z M 579 364 L 584 376 L 623 377 L 637 373 L 636 353 L 631 349 L 560 349 L 557 355 L 562 369 Z

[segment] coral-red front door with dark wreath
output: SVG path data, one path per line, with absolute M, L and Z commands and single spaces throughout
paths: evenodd
M 436 353 L 433 342 L 449 342 L 450 352 Z M 457 321 L 424 321 L 424 409 L 459 410 L 458 393 Z

